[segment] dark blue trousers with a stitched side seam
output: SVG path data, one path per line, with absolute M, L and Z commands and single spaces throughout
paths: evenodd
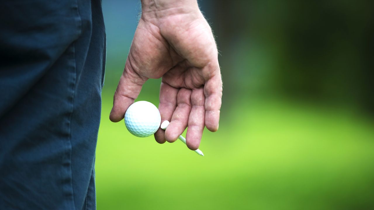
M 0 6 L 0 209 L 96 209 L 100 0 Z

